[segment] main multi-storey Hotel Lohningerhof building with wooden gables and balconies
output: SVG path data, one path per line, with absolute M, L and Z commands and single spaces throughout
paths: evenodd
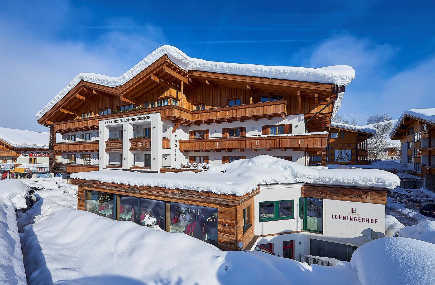
M 276 67 L 290 75 L 259 74 L 256 69 L 269 67 L 245 64 L 248 75 L 241 75 L 237 64 L 206 62 L 220 68 L 214 72 L 183 68 L 178 59 L 185 54 L 161 49 L 165 53 L 155 51 L 141 70 L 142 62 L 122 77 L 98 83 L 76 77 L 38 113 L 38 122 L 50 127 L 51 171 L 64 178 L 103 168 L 160 171 L 182 162 L 219 165 L 259 154 L 306 165 L 318 155 L 326 164 L 328 134 L 322 132 L 338 110 L 343 85 L 354 77 L 351 67 L 328 79 L 337 71 L 313 77 L 324 71 Z M 55 152 L 61 154 L 58 162 Z

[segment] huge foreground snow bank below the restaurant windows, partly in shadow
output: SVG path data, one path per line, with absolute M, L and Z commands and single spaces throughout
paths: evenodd
M 54 208 L 20 231 L 29 285 L 360 284 L 348 262 L 308 266 L 262 252 L 221 251 L 183 233 Z

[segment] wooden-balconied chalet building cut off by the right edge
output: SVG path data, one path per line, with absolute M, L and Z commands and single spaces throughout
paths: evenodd
M 400 140 L 401 161 L 409 172 L 424 178 L 424 186 L 435 191 L 435 109 L 405 111 L 390 138 Z

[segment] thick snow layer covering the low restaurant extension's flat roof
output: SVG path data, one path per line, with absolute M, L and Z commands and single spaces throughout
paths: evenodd
M 236 160 L 208 171 L 194 173 L 137 173 L 102 170 L 71 174 L 70 178 L 96 180 L 132 186 L 164 187 L 209 191 L 242 196 L 257 189 L 259 184 L 314 183 L 348 186 L 395 188 L 397 175 L 372 169 L 316 169 L 281 158 L 259 155 Z

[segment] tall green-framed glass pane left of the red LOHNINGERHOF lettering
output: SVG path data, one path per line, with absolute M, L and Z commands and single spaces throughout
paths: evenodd
M 323 233 L 323 199 L 304 199 L 304 230 Z

